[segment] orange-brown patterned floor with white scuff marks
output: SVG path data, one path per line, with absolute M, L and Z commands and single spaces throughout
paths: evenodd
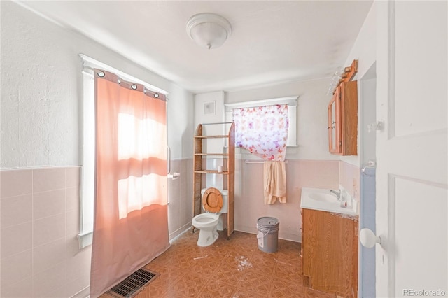
M 235 232 L 227 240 L 220 232 L 213 245 L 202 248 L 198 233 L 188 230 L 146 265 L 160 276 L 137 298 L 335 297 L 303 287 L 300 243 L 279 239 L 276 253 L 264 253 L 254 234 Z

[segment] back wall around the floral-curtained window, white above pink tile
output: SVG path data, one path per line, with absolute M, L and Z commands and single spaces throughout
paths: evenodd
M 297 143 L 289 147 L 287 204 L 265 205 L 262 192 L 262 164 L 235 162 L 235 229 L 256 234 L 257 218 L 274 216 L 281 222 L 279 238 L 300 241 L 301 187 L 335 188 L 338 184 L 339 156 L 328 152 L 328 115 L 330 95 L 326 94 L 330 78 L 293 81 L 250 90 L 224 92 L 223 104 L 299 96 L 297 103 Z M 203 115 L 205 101 L 219 99 L 222 92 L 195 95 L 195 124 L 221 122 L 224 111 Z M 216 101 L 217 104 L 220 100 Z M 238 150 L 237 150 L 238 151 Z M 240 155 L 241 156 L 241 155 Z M 246 154 L 243 155 L 246 158 Z M 302 160 L 297 160 L 302 159 Z M 311 159 L 311 160 L 304 160 Z M 207 175 L 207 186 L 211 185 Z M 216 183 L 214 183 L 216 184 Z

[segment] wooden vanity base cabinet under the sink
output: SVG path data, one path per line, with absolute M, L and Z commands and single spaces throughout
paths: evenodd
M 358 216 L 302 208 L 305 287 L 358 295 Z

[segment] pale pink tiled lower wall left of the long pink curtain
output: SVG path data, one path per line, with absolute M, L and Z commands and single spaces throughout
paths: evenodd
M 80 167 L 0 171 L 0 297 L 86 297 L 78 249 Z

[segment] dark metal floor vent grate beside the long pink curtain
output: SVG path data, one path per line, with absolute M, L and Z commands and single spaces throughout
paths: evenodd
M 113 297 L 131 298 L 143 290 L 151 281 L 159 276 L 158 273 L 141 268 L 111 288 L 107 293 Z

